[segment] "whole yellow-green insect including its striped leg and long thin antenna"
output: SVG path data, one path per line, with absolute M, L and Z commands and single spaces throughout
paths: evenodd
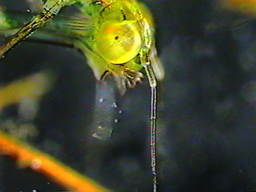
M 98 81 L 106 75 L 114 76 L 117 87 L 124 94 L 126 87 L 134 87 L 141 81 L 143 68 L 151 87 L 150 146 L 154 191 L 156 178 L 156 113 L 157 80 L 164 77 L 164 71 L 155 48 L 155 27 L 153 17 L 145 5 L 135 0 L 48 0 L 42 13 L 36 15 L 20 29 L 6 45 L 3 56 L 15 45 L 58 14 L 61 7 L 76 3 L 81 11 L 60 25 L 47 24 L 53 34 L 66 35 L 86 55 Z M 58 18 L 58 17 L 57 17 Z

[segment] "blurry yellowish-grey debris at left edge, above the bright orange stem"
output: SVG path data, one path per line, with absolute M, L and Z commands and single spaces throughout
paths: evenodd
M 45 71 L 14 81 L 0 89 L 0 109 L 18 103 L 18 118 L 0 122 L 0 129 L 22 140 L 37 137 L 38 131 L 33 123 L 38 111 L 38 100 L 53 82 Z

